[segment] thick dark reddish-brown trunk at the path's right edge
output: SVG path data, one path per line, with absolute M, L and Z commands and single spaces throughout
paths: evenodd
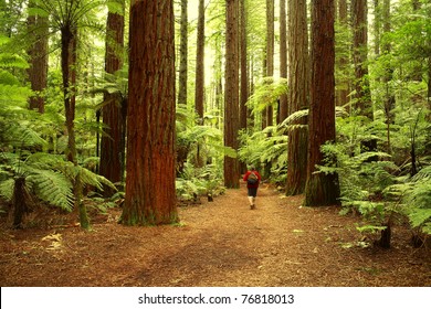
M 334 0 L 312 1 L 312 84 L 308 128 L 306 206 L 337 204 L 338 174 L 316 173 L 324 163 L 320 147 L 335 141 Z

